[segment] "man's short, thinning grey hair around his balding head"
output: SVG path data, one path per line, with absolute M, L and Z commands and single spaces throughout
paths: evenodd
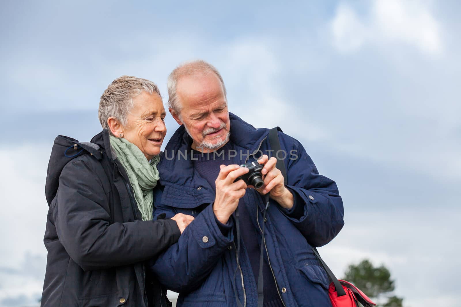
M 221 74 L 219 74 L 219 71 L 216 69 L 216 67 L 203 60 L 195 60 L 180 64 L 168 76 L 168 107 L 173 109 L 179 116 L 179 112 L 182 109 L 182 104 L 177 97 L 177 81 L 181 77 L 200 74 L 207 75 L 208 73 L 213 73 L 218 77 L 219 81 L 221 82 L 221 86 L 223 87 L 224 97 L 227 99 L 227 92 L 223 77 L 221 77 Z

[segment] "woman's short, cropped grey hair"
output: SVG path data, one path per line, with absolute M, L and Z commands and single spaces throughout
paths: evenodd
M 157 93 L 162 97 L 157 85 L 146 79 L 122 75 L 112 81 L 99 101 L 98 117 L 101 126 L 111 133 L 107 125 L 107 119 L 111 116 L 122 125 L 126 125 L 126 116 L 133 109 L 133 98 L 140 95 L 142 91 L 149 94 Z

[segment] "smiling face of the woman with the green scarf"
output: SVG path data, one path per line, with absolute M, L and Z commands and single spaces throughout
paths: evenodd
M 162 98 L 143 91 L 133 98 L 133 109 L 122 126 L 123 137 L 138 146 L 148 160 L 160 153 L 166 134 L 165 115 Z

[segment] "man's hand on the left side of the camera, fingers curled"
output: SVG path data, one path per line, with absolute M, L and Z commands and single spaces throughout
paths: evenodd
M 240 168 L 236 164 L 228 166 L 220 165 L 218 178 L 216 179 L 216 197 L 213 204 L 213 212 L 216 218 L 223 224 L 227 223 L 232 213 L 238 206 L 238 201 L 245 195 L 247 184 L 237 177 L 248 173 L 248 168 Z

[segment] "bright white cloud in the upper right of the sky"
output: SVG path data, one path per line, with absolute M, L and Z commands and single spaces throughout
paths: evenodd
M 427 1 L 374 0 L 364 16 L 341 3 L 330 29 L 333 45 L 341 52 L 358 50 L 366 43 L 393 42 L 413 45 L 429 54 L 443 50 L 441 27 Z

